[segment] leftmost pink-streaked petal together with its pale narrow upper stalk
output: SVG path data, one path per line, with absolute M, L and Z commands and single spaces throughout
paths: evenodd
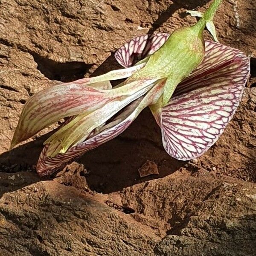
M 143 66 L 57 84 L 35 94 L 23 108 L 11 148 L 64 117 L 93 111 L 115 100 L 118 95 L 114 94 L 116 90 L 108 90 L 111 88 L 109 80 L 127 78 Z

